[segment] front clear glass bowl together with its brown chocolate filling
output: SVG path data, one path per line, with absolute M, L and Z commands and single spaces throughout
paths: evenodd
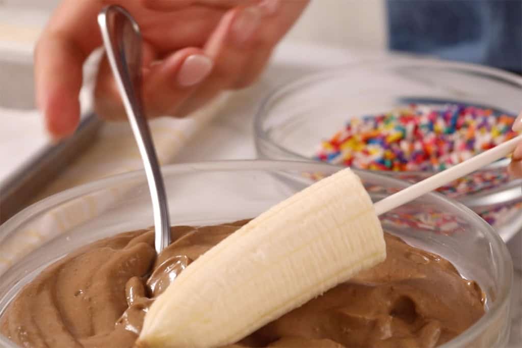
M 230 161 L 171 165 L 163 168 L 163 174 L 172 224 L 208 226 L 253 218 L 337 170 L 336 166 L 314 162 Z M 374 201 L 408 185 L 395 178 L 372 172 L 358 174 Z M 14 339 L 18 342 L 31 341 L 30 338 L 37 335 L 38 339 L 32 342 L 41 339 L 41 346 L 60 346 L 64 345 L 63 342 L 103 346 L 103 342 L 106 345 L 103 340 L 107 337 L 111 338 L 112 345 L 122 342 L 118 341 L 121 337 L 114 334 L 116 326 L 128 319 L 123 318 L 124 314 L 129 314 L 126 310 L 128 299 L 125 298 L 125 289 L 129 283 L 126 283 L 127 276 L 122 274 L 134 266 L 132 263 L 120 262 L 123 265 L 120 269 L 122 272 L 115 271 L 109 273 L 111 277 L 104 277 L 106 267 L 113 263 L 113 259 L 105 257 L 104 253 L 122 248 L 122 243 L 114 242 L 110 247 L 105 245 L 107 248 L 100 249 L 101 251 L 97 249 L 101 254 L 92 254 L 98 255 L 96 257 L 89 256 L 91 254 L 84 251 L 92 247 L 91 243 L 108 237 L 112 239 L 104 241 L 120 240 L 127 243 L 136 237 L 145 238 L 143 240 L 151 243 L 152 239 L 147 235 L 138 237 L 139 232 L 117 237 L 123 239 L 114 237 L 127 231 L 147 229 L 152 225 L 149 199 L 144 173 L 133 172 L 44 199 L 0 226 L 0 332 L 11 334 L 11 338 L 15 335 Z M 384 215 L 381 221 L 388 233 L 387 245 L 390 249 L 388 259 L 384 262 L 388 262 L 388 273 L 381 268 L 381 273 L 360 274 L 359 278 L 350 281 L 352 283 L 342 284 L 334 288 L 333 292 L 327 292 L 309 302 L 305 305 L 309 307 L 304 309 L 304 314 L 292 311 L 289 316 L 284 316 L 274 325 L 254 333 L 242 343 L 246 346 L 268 346 L 276 343 L 279 344 L 276 346 L 285 346 L 284 342 L 287 341 L 284 340 L 295 339 L 285 337 L 286 335 L 301 334 L 306 337 L 298 339 L 307 340 L 309 345 L 320 341 L 327 342 L 329 346 L 338 341 L 350 346 L 343 341 L 343 337 L 358 337 L 357 344 L 362 342 L 374 346 L 404 346 L 412 342 L 424 342 L 422 344 L 425 346 L 439 344 L 442 347 L 500 347 L 506 344 L 509 335 L 509 295 L 513 266 L 506 246 L 491 226 L 468 208 L 438 194 L 425 195 Z M 237 227 L 228 224 L 222 231 L 230 233 Z M 207 248 L 212 244 L 206 239 L 206 233 L 211 234 L 208 231 L 212 229 L 215 227 L 174 229 L 177 233 L 174 244 L 179 243 L 176 247 L 180 249 L 176 249 L 176 252 L 180 253 L 177 256 L 181 263 L 184 262 L 183 257 L 189 254 L 186 247 L 194 246 L 199 250 L 192 250 L 191 253 L 195 254 L 189 255 L 189 258 L 197 257 L 197 253 L 204 251 L 205 247 L 197 242 L 199 236 L 206 241 Z M 191 243 L 186 243 L 186 240 L 183 242 L 180 236 L 186 233 L 193 233 L 196 239 L 188 239 Z M 409 246 L 393 236 L 401 238 Z M 104 241 L 99 243 L 103 244 Z M 400 253 L 394 254 L 394 245 L 398 246 Z M 84 247 L 81 249 L 83 251 L 75 251 L 80 247 Z M 152 246 L 150 248 L 153 250 Z M 131 253 L 127 250 L 124 254 L 126 257 L 140 258 L 139 252 Z M 88 257 L 84 258 L 86 255 Z M 72 257 L 77 262 L 76 266 L 44 271 L 62 258 L 67 264 Z M 125 257 L 122 256 L 122 260 L 125 261 Z M 402 266 L 393 266 L 394 262 Z M 142 263 L 139 264 L 143 266 Z M 150 276 L 148 274 L 151 270 L 147 270 L 148 267 L 145 266 L 145 270 L 141 271 L 144 277 Z M 432 273 L 427 271 L 428 268 L 446 271 Z M 435 280 L 432 274 L 439 274 L 442 278 Z M 120 281 L 122 277 L 123 281 Z M 386 280 L 386 277 L 394 280 Z M 91 278 L 117 283 L 119 287 L 113 293 L 111 301 L 121 305 L 113 306 L 112 302 L 102 302 L 100 305 L 100 302 L 93 300 L 99 297 L 92 295 L 91 288 L 76 289 L 75 282 L 85 284 Z M 433 281 L 436 281 L 436 285 Z M 30 282 L 41 286 L 31 288 L 32 285 L 28 286 Z M 29 293 L 35 296 L 26 297 L 23 301 L 16 300 L 17 295 L 28 294 L 25 289 L 32 289 L 34 292 Z M 104 289 L 103 286 L 101 289 Z M 411 296 L 400 293 L 405 292 L 405 289 L 414 293 Z M 371 302 L 369 307 L 362 306 L 364 301 L 361 297 L 353 295 L 359 291 L 370 298 L 384 294 L 384 297 L 377 296 L 382 299 L 382 305 L 371 305 Z M 350 295 L 345 298 L 343 295 L 339 298 L 335 296 L 336 292 L 350 293 L 355 297 Z M 94 297 L 89 297 L 89 294 Z M 393 298 L 388 298 L 386 294 L 397 296 L 389 295 Z M 353 298 L 359 299 L 354 301 Z M 316 313 L 315 306 L 328 307 L 330 299 L 340 301 L 339 308 L 342 310 L 330 308 L 331 310 L 323 311 L 321 315 Z M 145 306 L 148 299 L 141 298 L 140 301 Z M 323 304 L 314 301 L 323 301 Z M 78 306 L 74 305 L 76 303 Z M 473 310 L 468 310 L 470 303 L 474 303 Z M 60 310 L 56 311 L 56 308 Z M 110 315 L 94 312 L 89 314 L 90 311 L 96 311 L 96 308 L 101 308 L 98 310 L 102 314 L 108 310 Z M 462 308 L 466 308 L 466 311 L 459 314 L 458 311 L 462 311 Z M 479 313 L 477 308 L 480 309 L 479 315 L 476 315 Z M 375 311 L 378 313 L 375 314 Z M 474 316 L 472 311 L 476 313 Z M 87 323 L 78 321 L 78 318 L 84 318 L 85 315 L 92 315 L 98 320 L 90 318 L 92 322 L 87 320 Z M 303 319 L 301 322 L 307 323 L 303 324 L 305 326 L 301 333 L 293 331 L 293 327 L 285 323 L 289 320 L 292 322 L 295 315 L 302 315 L 302 318 L 299 317 L 300 320 Z M 101 324 L 111 316 L 113 318 L 108 321 L 109 324 Z M 440 318 L 436 319 L 437 316 Z M 466 327 L 460 327 L 466 320 L 469 321 Z M 462 332 L 455 333 L 457 327 Z M 131 341 L 135 335 L 133 328 L 135 327 L 132 325 L 125 328 L 128 329 L 125 337 L 130 337 Z M 73 341 L 66 341 L 64 337 Z M 2 335 L 0 345 L 16 347 Z M 66 345 L 71 346 L 71 343 Z

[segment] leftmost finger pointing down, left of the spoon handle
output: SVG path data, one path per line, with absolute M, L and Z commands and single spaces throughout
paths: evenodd
M 63 2 L 35 47 L 36 102 L 49 133 L 56 139 L 74 133 L 78 125 L 82 65 L 101 40 L 93 30 L 97 5 Z

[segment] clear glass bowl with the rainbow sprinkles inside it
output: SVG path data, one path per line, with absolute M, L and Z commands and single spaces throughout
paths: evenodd
M 270 94 L 255 118 L 256 148 L 260 158 L 315 160 L 414 183 L 515 137 L 521 110 L 522 78 L 502 70 L 425 58 L 365 62 Z M 505 220 L 522 202 L 509 161 L 439 191 L 491 224 Z

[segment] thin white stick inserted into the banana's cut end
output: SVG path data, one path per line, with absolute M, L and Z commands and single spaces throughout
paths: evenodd
M 409 186 L 398 193 L 388 196 L 383 200 L 378 201 L 373 206 L 377 215 L 384 214 L 392 209 L 400 207 L 434 189 L 449 184 L 459 177 L 468 175 L 485 165 L 488 165 L 496 160 L 506 157 L 513 152 L 517 144 L 522 141 L 522 135 L 519 135 L 511 140 L 508 140 L 501 145 L 495 146 L 488 151 L 479 153 L 478 155 L 450 167 L 440 173 L 430 176 L 423 181 Z

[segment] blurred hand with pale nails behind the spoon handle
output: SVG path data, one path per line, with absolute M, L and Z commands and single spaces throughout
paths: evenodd
M 97 16 L 124 6 L 144 39 L 143 98 L 147 116 L 185 116 L 220 91 L 250 85 L 308 0 L 63 0 L 35 49 L 37 105 L 49 133 L 74 133 L 82 65 L 102 39 Z M 97 113 L 124 119 L 106 58 L 94 92 Z

